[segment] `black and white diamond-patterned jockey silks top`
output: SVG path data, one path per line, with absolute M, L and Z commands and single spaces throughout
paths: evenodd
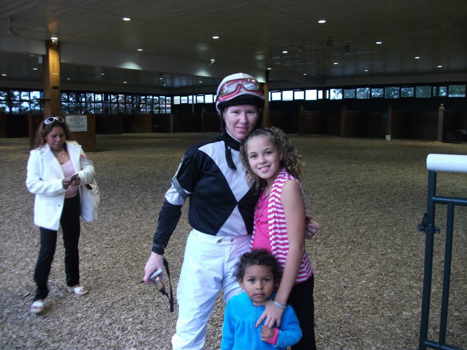
M 227 163 L 227 147 L 236 170 Z M 240 142 L 226 132 L 188 148 L 165 193 L 153 252 L 163 254 L 188 196 L 188 221 L 196 230 L 220 237 L 252 233 L 258 193 L 247 184 L 239 151 Z

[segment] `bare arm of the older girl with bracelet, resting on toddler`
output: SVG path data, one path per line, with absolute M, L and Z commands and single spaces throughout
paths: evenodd
M 286 305 L 305 252 L 305 204 L 302 189 L 296 181 L 289 180 L 282 187 L 281 204 L 284 207 L 284 214 L 286 216 L 289 248 L 281 284 L 279 285 L 275 299 L 282 305 Z M 259 317 L 258 322 L 256 322 L 256 327 L 265 318 L 265 325 L 268 327 L 272 328 L 274 323 L 279 327 L 283 312 L 272 301 L 268 301 L 266 310 Z

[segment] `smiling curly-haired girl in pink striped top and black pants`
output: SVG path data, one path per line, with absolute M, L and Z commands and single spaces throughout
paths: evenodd
M 250 185 L 261 195 L 254 211 L 251 249 L 267 249 L 279 261 L 283 276 L 276 297 L 256 327 L 280 325 L 287 303 L 303 331 L 292 350 L 314 350 L 313 267 L 305 251 L 305 195 L 300 185 L 303 163 L 279 128 L 256 129 L 242 142 L 241 157 Z

